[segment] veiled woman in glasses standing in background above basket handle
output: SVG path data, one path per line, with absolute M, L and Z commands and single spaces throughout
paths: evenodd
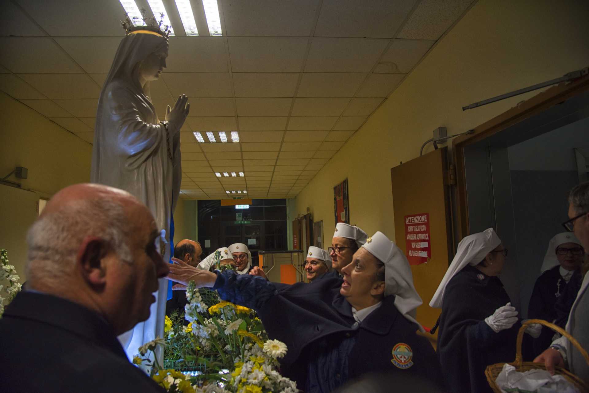
M 573 275 L 579 274 L 584 257 L 581 242 L 573 233 L 563 232 L 550 239 L 541 267 L 542 275 L 538 277 L 530 298 L 528 318 L 554 322 L 557 318 L 555 304 L 564 294 L 564 289 Z M 576 297 L 575 292 L 574 298 Z M 550 329 L 542 329 L 540 337 L 534 340 L 535 355 L 550 345 L 553 335 L 554 332 Z

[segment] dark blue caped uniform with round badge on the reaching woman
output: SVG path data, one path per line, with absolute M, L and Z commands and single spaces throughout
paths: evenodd
M 261 277 L 226 271 L 213 287 L 221 299 L 253 308 L 270 338 L 284 342 L 284 376 L 307 393 L 330 392 L 369 372 L 385 372 L 394 384 L 431 378 L 441 381 L 439 364 L 428 340 L 386 297 L 360 324 L 339 294 L 341 279 L 307 285 L 276 285 Z

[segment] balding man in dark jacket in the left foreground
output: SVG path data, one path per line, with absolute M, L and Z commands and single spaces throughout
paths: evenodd
M 168 274 L 158 229 L 120 189 L 78 184 L 55 194 L 28 232 L 27 290 L 0 319 L 2 391 L 164 391 L 117 339 L 150 316 Z

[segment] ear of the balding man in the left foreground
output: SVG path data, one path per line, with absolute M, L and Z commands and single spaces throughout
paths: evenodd
M 87 237 L 78 249 L 76 264 L 82 277 L 93 287 L 106 284 L 105 257 L 109 245 L 101 238 Z

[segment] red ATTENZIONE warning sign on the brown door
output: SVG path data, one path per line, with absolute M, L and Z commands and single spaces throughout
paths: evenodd
M 405 245 L 409 265 L 428 263 L 432 258 L 428 213 L 405 216 Z

